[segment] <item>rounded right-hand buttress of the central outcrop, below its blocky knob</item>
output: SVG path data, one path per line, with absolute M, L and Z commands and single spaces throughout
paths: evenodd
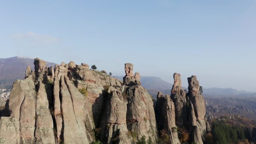
M 153 101 L 149 93 L 140 85 L 124 88 L 127 95 L 127 126 L 129 131 L 137 133 L 137 139 L 143 135 L 151 137 L 153 141 L 157 138 L 156 119 Z

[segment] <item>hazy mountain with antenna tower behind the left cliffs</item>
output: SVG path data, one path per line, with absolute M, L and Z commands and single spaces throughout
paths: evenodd
M 47 62 L 47 66 L 54 66 L 55 63 Z M 30 66 L 34 70 L 34 59 L 15 56 L 12 58 L 0 58 L 0 88 L 10 89 L 17 79 L 24 79 L 25 71 Z

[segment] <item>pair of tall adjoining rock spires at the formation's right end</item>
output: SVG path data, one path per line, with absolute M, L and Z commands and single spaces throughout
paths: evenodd
M 188 78 L 188 93 L 182 89 L 181 75 L 174 73 L 174 84 L 171 99 L 175 106 L 176 125 L 188 130 L 191 142 L 203 144 L 203 135 L 207 132 L 204 120 L 206 109 L 204 97 L 199 93 L 199 82 L 196 76 Z M 210 131 L 210 126 L 208 126 Z

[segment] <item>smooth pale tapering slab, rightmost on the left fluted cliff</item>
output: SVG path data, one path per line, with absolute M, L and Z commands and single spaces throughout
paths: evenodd
M 64 142 L 68 144 L 89 143 L 88 138 L 86 137 L 85 127 L 83 124 L 83 119 L 85 118 L 83 112 L 84 98 L 82 94 L 78 93 L 78 89 L 68 89 L 70 83 L 71 82 L 68 82 L 67 77 L 61 76 L 60 94 L 61 109 L 64 123 Z M 75 96 L 77 97 L 75 98 Z

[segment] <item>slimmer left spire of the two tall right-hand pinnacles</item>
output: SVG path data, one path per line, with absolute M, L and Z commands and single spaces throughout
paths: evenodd
M 175 105 L 175 118 L 176 125 L 183 126 L 187 122 L 187 106 L 186 106 L 186 92 L 182 89 L 182 83 L 180 80 L 180 74 L 174 73 L 174 83 L 171 89 L 171 99 Z

